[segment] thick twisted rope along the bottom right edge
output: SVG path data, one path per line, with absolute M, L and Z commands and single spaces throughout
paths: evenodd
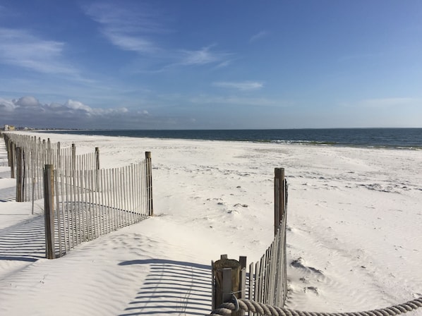
M 236 308 L 245 312 L 255 312 L 265 316 L 392 316 L 402 315 L 405 312 L 411 312 L 422 308 L 422 297 L 409 300 L 406 303 L 381 308 L 378 310 L 368 310 L 364 312 L 306 312 L 301 310 L 291 310 L 289 308 L 279 308 L 277 306 L 258 303 L 253 300 L 236 298 L 232 296 L 233 302 L 223 303 L 219 308 L 213 310 L 210 316 L 230 316 Z

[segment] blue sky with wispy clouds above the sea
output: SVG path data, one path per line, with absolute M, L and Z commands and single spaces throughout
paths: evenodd
M 422 127 L 422 1 L 0 0 L 0 125 Z

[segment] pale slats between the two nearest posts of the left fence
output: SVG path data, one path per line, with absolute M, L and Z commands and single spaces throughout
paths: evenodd
M 54 253 L 135 224 L 152 214 L 147 159 L 114 169 L 54 170 Z

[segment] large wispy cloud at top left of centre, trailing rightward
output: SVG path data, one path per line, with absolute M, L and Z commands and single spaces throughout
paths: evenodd
M 133 6 L 133 7 L 131 7 Z M 112 3 L 95 3 L 85 6 L 85 13 L 100 24 L 100 32 L 111 44 L 125 51 L 135 51 L 159 61 L 159 69 L 143 69 L 140 72 L 157 73 L 178 66 L 202 66 L 217 63 L 219 67 L 229 64 L 230 54 L 215 51 L 214 44 L 201 49 L 173 49 L 162 47 L 157 36 L 174 32 L 167 28 L 166 18 L 145 3 L 121 6 Z M 164 66 L 163 66 L 164 65 Z

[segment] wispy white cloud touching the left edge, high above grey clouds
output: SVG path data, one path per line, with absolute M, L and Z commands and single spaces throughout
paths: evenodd
M 0 28 L 0 43 L 0 63 L 40 73 L 77 73 L 64 60 L 63 42 L 42 39 L 28 30 Z

